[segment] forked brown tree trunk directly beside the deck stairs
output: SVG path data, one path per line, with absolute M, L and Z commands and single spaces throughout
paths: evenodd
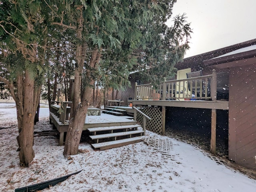
M 82 30 L 83 30 L 83 16 L 82 11 L 80 11 L 80 17 L 78 18 L 78 28 L 76 30 L 77 38 L 82 39 Z M 77 67 L 75 67 L 75 80 L 74 80 L 74 101 L 70 112 L 70 123 L 68 125 L 68 131 L 66 135 L 65 147 L 63 154 L 75 155 L 78 153 L 78 147 L 80 143 L 80 138 L 82 135 L 82 129 L 84 127 L 85 118 L 89 106 L 89 100 L 91 97 L 90 86 L 86 86 L 82 89 L 82 73 L 84 67 L 84 58 L 86 53 L 86 44 L 83 42 L 76 45 L 76 61 Z M 96 69 L 96 64 L 99 62 L 100 55 L 98 55 L 98 48 L 92 51 L 92 56 L 90 59 L 90 67 Z M 88 70 L 86 72 L 87 78 L 91 78 L 91 72 Z M 89 85 L 93 85 L 94 80 L 90 80 Z M 82 91 L 83 90 L 83 91 Z M 79 103 L 81 92 L 81 104 Z

